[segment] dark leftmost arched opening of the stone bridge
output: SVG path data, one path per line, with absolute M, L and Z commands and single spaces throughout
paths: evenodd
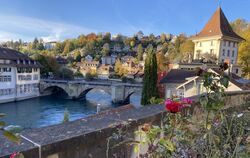
M 69 99 L 68 93 L 61 87 L 58 86 L 50 86 L 45 88 L 42 92 L 41 95 L 53 95 L 57 98 L 63 98 L 63 99 Z

